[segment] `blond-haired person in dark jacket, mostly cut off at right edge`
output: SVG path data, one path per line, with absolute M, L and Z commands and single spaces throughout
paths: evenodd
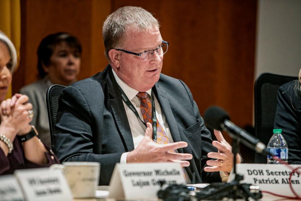
M 277 94 L 275 129 L 288 144 L 288 163 L 301 164 L 301 69 L 299 80 L 283 84 Z

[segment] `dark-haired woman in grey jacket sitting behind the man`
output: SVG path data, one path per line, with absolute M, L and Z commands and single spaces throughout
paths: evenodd
M 81 65 L 82 47 L 75 36 L 59 32 L 46 36 L 37 51 L 40 79 L 23 87 L 20 93 L 29 97 L 33 105 L 32 124 L 40 139 L 51 147 L 46 106 L 46 92 L 52 84 L 68 86 L 77 80 Z

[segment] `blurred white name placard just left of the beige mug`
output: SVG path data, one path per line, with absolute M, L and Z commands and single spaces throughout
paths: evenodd
M 26 200 L 66 200 L 72 201 L 69 186 L 60 170 L 49 168 L 24 169 L 14 171 Z

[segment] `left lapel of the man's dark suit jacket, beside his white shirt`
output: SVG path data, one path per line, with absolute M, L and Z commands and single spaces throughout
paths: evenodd
M 106 77 L 108 84 L 108 93 L 110 94 L 110 104 L 116 120 L 119 131 L 124 139 L 124 143 L 128 151 L 134 150 L 134 142 L 129 127 L 128 117 L 124 110 L 124 105 L 121 99 L 121 94 L 118 88 L 118 84 L 114 78 L 111 67 L 109 66 L 108 74 Z

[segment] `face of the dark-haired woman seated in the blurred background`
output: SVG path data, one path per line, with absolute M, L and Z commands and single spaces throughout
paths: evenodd
M 70 48 L 66 42 L 61 42 L 55 46 L 50 64 L 43 68 L 54 84 L 67 86 L 77 80 L 80 65 L 81 55 L 77 49 Z

